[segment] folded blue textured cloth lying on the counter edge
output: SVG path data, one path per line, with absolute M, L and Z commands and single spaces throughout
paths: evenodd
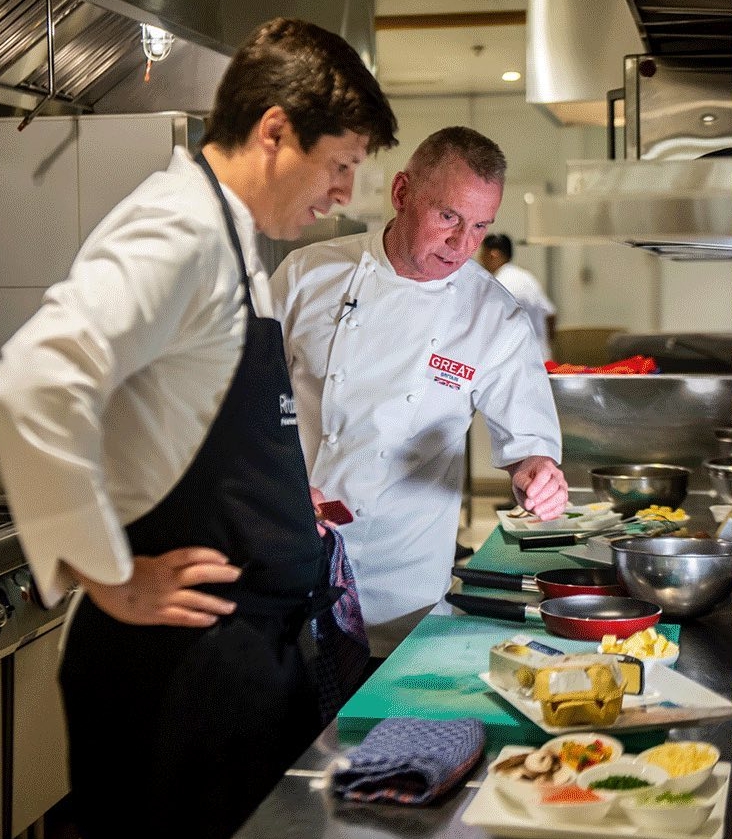
M 333 792 L 348 801 L 425 804 L 447 792 L 485 747 L 482 720 L 382 720 L 345 755 Z

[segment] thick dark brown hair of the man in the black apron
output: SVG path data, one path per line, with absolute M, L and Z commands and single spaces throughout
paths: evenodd
M 231 150 L 279 105 L 303 151 L 324 134 L 368 136 L 367 151 L 397 144 L 397 121 L 358 53 L 333 32 L 276 18 L 258 27 L 231 59 L 216 91 L 203 144 Z

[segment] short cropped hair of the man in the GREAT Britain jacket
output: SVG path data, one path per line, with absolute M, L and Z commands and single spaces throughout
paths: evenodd
M 489 183 L 503 184 L 506 158 L 498 146 L 472 128 L 454 125 L 423 140 L 407 164 L 413 172 L 436 169 L 451 155 L 463 160 L 476 175 Z

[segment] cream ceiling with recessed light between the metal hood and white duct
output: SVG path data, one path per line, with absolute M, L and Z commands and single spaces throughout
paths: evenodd
M 447 93 L 524 93 L 525 27 L 471 26 L 382 29 L 393 15 L 525 12 L 526 0 L 376 0 L 376 61 L 389 96 Z M 521 79 L 504 82 L 517 70 Z

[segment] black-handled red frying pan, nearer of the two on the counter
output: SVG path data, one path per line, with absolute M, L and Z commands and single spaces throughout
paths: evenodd
M 450 593 L 445 600 L 470 615 L 521 623 L 541 620 L 549 632 L 578 641 L 601 641 L 603 635 L 628 638 L 661 617 L 661 608 L 655 603 L 605 594 L 554 597 L 538 605 L 472 594 Z

